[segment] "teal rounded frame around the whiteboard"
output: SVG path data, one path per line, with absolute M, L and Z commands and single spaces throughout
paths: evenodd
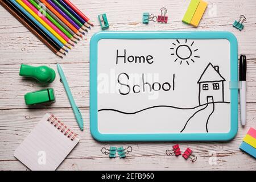
M 226 31 L 101 31 L 90 40 L 90 132 L 98 141 L 230 140 L 238 130 L 238 89 L 230 89 L 229 133 L 101 134 L 98 131 L 97 56 L 101 39 L 227 39 L 230 42 L 230 81 L 238 81 L 237 39 Z

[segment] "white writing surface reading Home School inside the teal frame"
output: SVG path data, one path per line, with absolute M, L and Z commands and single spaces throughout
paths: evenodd
M 98 40 L 98 133 L 229 133 L 230 40 L 192 37 Z

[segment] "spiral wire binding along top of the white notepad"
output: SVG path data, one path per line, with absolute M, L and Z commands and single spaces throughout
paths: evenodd
M 61 122 L 59 119 L 54 117 L 54 114 L 52 114 L 47 119 L 47 121 L 49 121 L 49 123 L 55 126 L 56 129 L 60 130 L 61 133 L 64 133 L 64 135 L 67 135 L 67 137 L 70 138 L 71 140 L 74 140 L 77 137 L 77 134 L 74 131 L 72 131 L 70 128 L 68 128 L 67 125 L 64 125 L 64 123 Z

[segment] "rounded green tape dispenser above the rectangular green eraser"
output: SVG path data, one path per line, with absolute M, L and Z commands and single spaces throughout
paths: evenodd
M 55 79 L 55 71 L 47 66 L 32 67 L 31 65 L 20 65 L 19 75 L 32 77 L 44 83 L 51 83 Z

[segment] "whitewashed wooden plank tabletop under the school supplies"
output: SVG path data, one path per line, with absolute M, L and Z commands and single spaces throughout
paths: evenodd
M 256 127 L 256 1 L 255 0 L 207 0 L 208 9 L 198 28 L 181 22 L 188 0 L 72 0 L 95 26 L 85 39 L 73 48 L 64 59 L 55 56 L 34 35 L 0 6 L 0 170 L 26 170 L 16 160 L 14 150 L 30 133 L 45 113 L 53 113 L 67 125 L 77 130 L 80 143 L 60 165 L 59 170 L 114 170 L 114 169 L 236 169 L 255 170 L 256 160 L 240 151 L 239 146 L 249 127 Z M 160 8 L 168 10 L 168 23 L 142 24 L 142 13 L 158 15 Z M 179 142 L 181 150 L 190 147 L 198 156 L 195 163 L 185 161 L 181 156 L 167 156 L 166 149 L 176 142 L 152 143 L 99 143 L 89 131 L 89 40 L 100 31 L 97 15 L 106 13 L 109 30 L 223 30 L 233 32 L 238 39 L 238 52 L 247 56 L 247 123 L 230 142 Z M 234 20 L 246 16 L 244 29 L 240 32 L 232 27 Z M 56 70 L 61 63 L 71 86 L 73 96 L 81 109 L 85 121 L 84 132 L 79 131 L 75 117 L 59 75 L 49 86 L 55 89 L 56 102 L 44 107 L 28 109 L 24 94 L 46 88 L 32 79 L 19 76 L 20 64 L 48 65 Z M 132 146 L 133 152 L 125 159 L 112 159 L 101 154 L 102 147 Z M 210 161 L 210 162 L 209 162 Z M 212 161 L 212 162 L 211 162 Z

